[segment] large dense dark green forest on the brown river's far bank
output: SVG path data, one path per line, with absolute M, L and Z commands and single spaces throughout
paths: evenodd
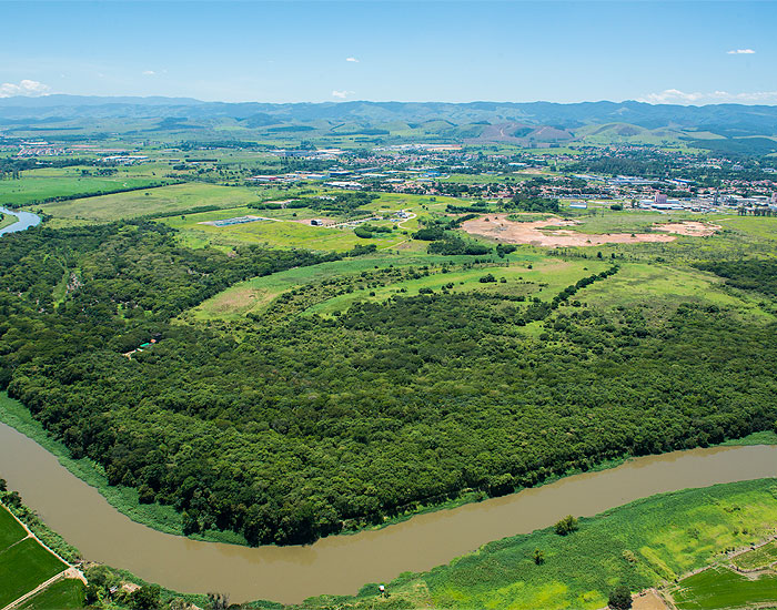
M 185 531 L 253 545 L 777 419 L 774 327 L 699 304 L 656 322 L 571 301 L 617 267 L 549 301 L 437 293 L 329 318 L 173 319 L 240 279 L 333 258 L 189 250 L 142 221 L 3 237 L 0 386 L 111 484 L 179 509 Z

